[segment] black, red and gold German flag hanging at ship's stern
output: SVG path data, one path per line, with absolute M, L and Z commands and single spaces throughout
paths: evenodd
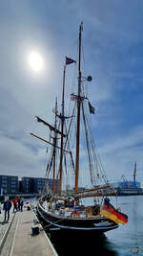
M 115 210 L 108 199 L 104 200 L 100 214 L 116 223 L 126 224 L 128 222 L 128 216 Z

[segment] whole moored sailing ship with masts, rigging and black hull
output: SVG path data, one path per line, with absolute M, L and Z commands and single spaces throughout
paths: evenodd
M 75 61 L 66 57 L 62 105 L 59 112 L 56 99 L 53 109 L 54 125 L 36 116 L 37 122 L 50 129 L 52 141 L 31 133 L 32 136 L 51 145 L 46 169 L 48 182 L 37 204 L 37 214 L 47 223 L 49 232 L 74 230 L 101 233 L 117 228 L 118 222 L 127 222 L 127 216 L 118 212 L 110 203 L 109 197 L 115 194 L 95 150 L 91 121 L 89 123 L 89 118 L 92 116 L 90 113 L 94 113 L 94 107 L 85 91 L 87 81 L 92 81 L 92 77 L 85 78 L 81 72 L 82 32 L 83 24 L 81 23 L 78 35 L 78 59 Z M 65 110 L 66 68 L 67 65 L 76 64 L 76 62 L 78 63 L 77 89 L 71 94 L 72 112 L 67 114 Z M 85 83 L 86 86 L 84 86 Z M 70 105 L 68 108 L 71 110 Z M 88 114 L 87 110 L 90 110 Z M 72 135 L 73 131 L 74 135 Z M 84 135 L 85 141 L 81 135 Z M 84 150 L 84 146 L 87 151 Z M 91 183 L 89 185 L 91 187 L 81 187 L 80 181 L 82 180 Z M 88 199 L 92 200 L 90 205 L 83 203 L 83 200 L 88 201 Z

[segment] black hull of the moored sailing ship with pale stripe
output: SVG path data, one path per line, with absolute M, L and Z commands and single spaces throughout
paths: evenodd
M 79 231 L 104 233 L 115 229 L 118 224 L 104 217 L 95 218 L 67 218 L 47 212 L 40 204 L 37 205 L 37 214 L 46 224 L 46 230 L 52 231 Z

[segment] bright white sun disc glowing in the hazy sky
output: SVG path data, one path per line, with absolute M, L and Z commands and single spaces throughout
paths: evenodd
M 44 68 L 44 60 L 42 56 L 37 52 L 31 52 L 29 55 L 29 64 L 31 69 L 35 72 L 42 71 Z

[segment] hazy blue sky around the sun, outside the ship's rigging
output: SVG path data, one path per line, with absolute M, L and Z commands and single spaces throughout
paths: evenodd
M 0 1 L 0 175 L 44 176 L 46 147 L 35 115 L 52 122 L 65 56 L 76 58 L 83 21 L 85 76 L 96 146 L 109 179 L 143 186 L 143 1 Z M 43 58 L 39 72 L 30 54 Z

